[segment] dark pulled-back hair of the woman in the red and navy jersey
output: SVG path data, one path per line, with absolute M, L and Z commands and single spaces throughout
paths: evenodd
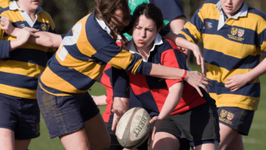
M 133 13 L 133 17 L 137 19 L 139 18 L 140 15 L 145 15 L 146 18 L 153 20 L 153 22 L 155 22 L 155 25 L 157 27 L 157 31 L 158 29 L 162 29 L 164 25 L 164 18 L 162 16 L 162 11 L 154 4 L 143 3 L 137 6 L 137 8 Z

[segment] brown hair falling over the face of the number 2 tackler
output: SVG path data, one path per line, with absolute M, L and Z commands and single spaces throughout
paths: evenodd
M 116 36 L 118 36 L 118 39 L 120 39 L 123 48 L 125 49 L 125 43 L 127 42 L 127 39 L 123 34 L 121 34 L 115 25 L 113 25 L 113 22 L 111 21 L 111 18 L 116 20 L 121 26 L 127 25 L 128 22 L 130 22 L 130 11 L 126 0 L 94 0 L 95 3 L 95 11 L 94 15 L 98 19 L 104 20 L 106 25 L 112 30 Z M 117 9 L 120 9 L 123 12 L 123 20 L 124 22 L 119 22 L 118 19 L 113 15 Z M 120 37 L 122 38 L 120 38 Z

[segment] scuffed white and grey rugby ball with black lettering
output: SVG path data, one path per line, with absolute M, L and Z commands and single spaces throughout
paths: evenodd
M 151 132 L 148 112 L 140 107 L 127 111 L 118 122 L 116 136 L 121 146 L 132 149 L 143 144 Z

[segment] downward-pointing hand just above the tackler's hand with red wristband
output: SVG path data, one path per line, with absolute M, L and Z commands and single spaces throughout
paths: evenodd
M 202 67 L 202 74 L 204 76 L 207 76 L 207 66 L 204 63 L 204 58 L 202 57 L 202 51 L 200 50 L 199 46 L 194 44 L 194 48 L 191 49 L 193 51 L 194 56 L 197 59 L 197 65 L 200 65 Z

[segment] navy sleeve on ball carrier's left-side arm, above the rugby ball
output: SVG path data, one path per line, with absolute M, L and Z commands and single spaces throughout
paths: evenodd
M 130 79 L 124 69 L 112 67 L 113 97 L 130 97 Z

